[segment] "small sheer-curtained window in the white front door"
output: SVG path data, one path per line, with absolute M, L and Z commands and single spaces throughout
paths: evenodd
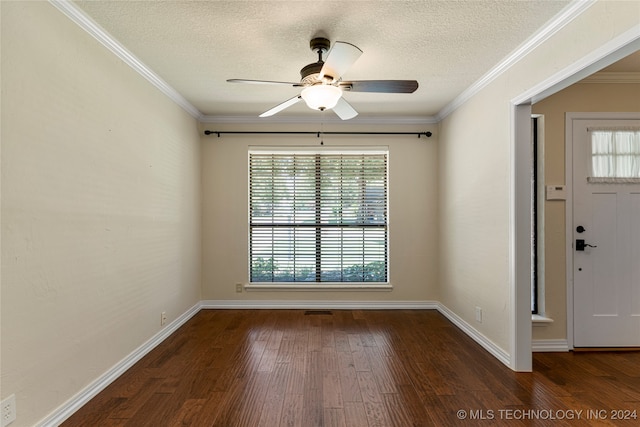
M 591 128 L 589 182 L 640 181 L 640 130 Z

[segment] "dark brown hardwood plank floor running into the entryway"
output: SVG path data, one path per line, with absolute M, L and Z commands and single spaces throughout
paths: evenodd
M 436 311 L 203 310 L 63 425 L 635 426 L 638 412 L 638 352 L 537 353 L 515 373 Z

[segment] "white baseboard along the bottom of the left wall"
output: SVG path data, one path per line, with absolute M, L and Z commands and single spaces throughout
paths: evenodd
M 201 303 L 197 303 L 196 305 L 188 309 L 180 317 L 158 331 L 158 333 L 151 337 L 147 342 L 135 349 L 127 357 L 122 359 L 111 369 L 102 374 L 95 381 L 82 389 L 78 394 L 66 401 L 62 406 L 58 407 L 55 411 L 42 419 L 36 425 L 39 427 L 57 427 L 62 424 L 67 418 L 73 415 L 74 412 L 76 412 L 83 405 L 93 399 L 102 390 L 107 388 L 107 386 L 115 381 L 120 375 L 125 373 L 127 369 L 131 368 L 147 353 L 156 348 L 162 341 L 167 339 L 180 326 L 185 324 L 196 313 L 198 313 L 200 309 Z

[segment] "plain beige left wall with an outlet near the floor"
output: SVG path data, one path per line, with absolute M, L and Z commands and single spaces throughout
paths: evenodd
M 18 427 L 200 300 L 200 140 L 53 6 L 1 7 L 1 397 Z

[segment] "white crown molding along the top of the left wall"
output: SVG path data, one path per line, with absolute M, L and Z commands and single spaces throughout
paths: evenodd
M 162 80 L 160 76 L 153 72 L 147 65 L 140 61 L 134 54 L 129 52 L 111 34 L 100 27 L 86 13 L 80 10 L 69 0 L 49 0 L 56 9 L 76 23 L 80 28 L 89 33 L 93 38 L 109 49 L 124 63 L 133 68 L 138 74 L 147 79 L 152 85 L 169 97 L 173 102 L 182 107 L 187 113 L 196 119 L 202 117 L 202 113 L 186 100 L 177 90 Z

